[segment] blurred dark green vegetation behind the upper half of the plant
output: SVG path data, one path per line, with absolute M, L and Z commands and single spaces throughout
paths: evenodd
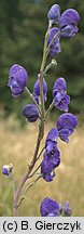
M 71 96 L 70 110 L 84 112 L 84 0 L 2 0 L 0 1 L 0 108 L 5 116 L 20 110 L 28 98 L 14 100 L 8 87 L 9 68 L 17 63 L 29 75 L 28 87 L 32 91 L 39 73 L 44 35 L 47 28 L 47 11 L 58 3 L 61 12 L 74 8 L 81 15 L 79 34 L 72 39 L 61 40 L 61 53 L 57 56 L 58 66 L 47 74 L 47 104 L 52 101 L 52 88 L 57 77 L 62 76 L 68 83 Z

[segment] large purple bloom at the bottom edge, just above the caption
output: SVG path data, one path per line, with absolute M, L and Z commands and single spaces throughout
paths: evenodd
M 60 205 L 54 199 L 45 197 L 40 207 L 42 217 L 58 217 L 60 212 Z

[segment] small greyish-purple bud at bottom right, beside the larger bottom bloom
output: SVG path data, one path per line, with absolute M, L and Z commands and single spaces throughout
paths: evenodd
M 69 202 L 65 203 L 65 206 L 62 206 L 62 214 L 66 217 L 71 217 L 71 208 L 69 207 Z

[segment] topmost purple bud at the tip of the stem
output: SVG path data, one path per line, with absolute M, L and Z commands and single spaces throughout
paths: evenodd
M 58 24 L 60 20 L 60 6 L 58 4 L 52 5 L 47 13 L 47 17 Z

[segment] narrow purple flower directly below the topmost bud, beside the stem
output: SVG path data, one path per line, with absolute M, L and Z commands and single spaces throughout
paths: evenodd
M 48 31 L 48 38 L 47 38 L 47 46 L 50 46 L 50 43 L 52 42 L 54 36 L 59 31 L 58 28 L 54 27 Z M 60 43 L 59 43 L 59 38 L 60 36 L 58 36 L 53 43 L 50 47 L 50 54 L 52 56 L 57 55 L 61 49 L 60 49 Z

